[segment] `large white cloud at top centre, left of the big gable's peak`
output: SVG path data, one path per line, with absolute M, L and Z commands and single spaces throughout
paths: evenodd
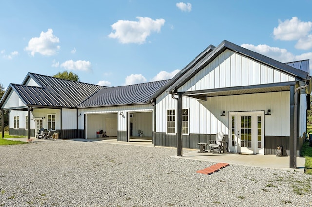
M 164 19 L 153 20 L 149 17 L 137 17 L 138 21 L 119 20 L 112 24 L 114 32 L 108 37 L 118 39 L 119 42 L 143 44 L 151 32 L 160 32 L 161 27 L 165 24 Z

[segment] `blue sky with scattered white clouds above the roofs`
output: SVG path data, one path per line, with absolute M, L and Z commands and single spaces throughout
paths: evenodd
M 312 0 L 0 0 L 0 83 L 72 71 L 122 86 L 169 79 L 223 40 L 310 59 Z

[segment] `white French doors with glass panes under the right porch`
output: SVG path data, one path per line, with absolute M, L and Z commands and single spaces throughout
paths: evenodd
M 231 152 L 264 154 L 264 112 L 229 113 Z

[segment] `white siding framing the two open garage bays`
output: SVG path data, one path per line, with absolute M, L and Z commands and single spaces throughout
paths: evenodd
M 98 108 L 81 108 L 78 114 L 79 129 L 84 129 L 84 114 L 107 114 L 107 113 L 117 113 L 118 114 L 118 131 L 127 131 L 127 112 L 143 112 L 152 111 L 153 106 L 150 104 L 142 105 L 131 105 L 131 106 L 116 106 L 116 107 L 98 107 Z M 122 114 L 122 115 L 120 115 Z

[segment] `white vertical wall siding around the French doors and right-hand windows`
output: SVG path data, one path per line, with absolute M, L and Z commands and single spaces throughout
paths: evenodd
M 231 96 L 207 97 L 207 101 L 183 97 L 183 108 L 189 109 L 190 134 L 229 133 L 228 112 L 267 111 L 266 136 L 289 136 L 290 92 L 270 92 Z M 167 93 L 156 99 L 156 132 L 166 133 L 168 109 L 176 109 L 177 100 Z M 220 116 L 226 111 L 226 116 Z

